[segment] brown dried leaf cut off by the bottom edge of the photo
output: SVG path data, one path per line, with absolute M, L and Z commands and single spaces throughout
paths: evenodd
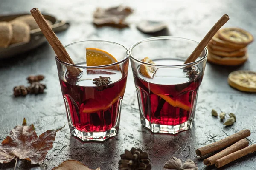
M 76 160 L 67 160 L 62 162 L 58 167 L 54 167 L 52 170 L 92 170 Z M 100 170 L 98 167 L 96 170 Z

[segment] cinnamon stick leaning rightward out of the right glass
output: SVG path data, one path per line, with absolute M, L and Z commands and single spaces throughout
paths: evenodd
M 206 45 L 209 43 L 209 41 L 212 39 L 212 37 L 217 33 L 217 31 L 229 20 L 229 16 L 227 14 L 224 14 L 217 23 L 210 29 L 210 31 L 205 35 L 203 40 L 198 44 L 198 46 L 195 48 L 195 50 L 190 54 L 189 58 L 186 59 L 186 62 L 184 64 L 194 62 L 201 54 L 201 52 L 204 50 Z

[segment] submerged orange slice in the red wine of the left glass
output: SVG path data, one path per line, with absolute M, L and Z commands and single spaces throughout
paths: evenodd
M 95 113 L 97 111 L 106 111 L 108 108 L 111 107 L 111 105 L 113 105 L 115 102 L 117 102 L 120 97 L 124 96 L 125 86 L 126 85 L 124 85 L 124 87 L 122 88 L 122 91 L 118 94 L 118 96 L 116 96 L 116 98 L 114 98 L 111 102 L 109 102 L 106 105 L 99 106 L 99 103 L 101 103 L 101 102 L 96 101 L 94 99 L 90 99 L 90 100 L 87 99 L 88 100 L 88 102 L 86 104 L 87 107 L 86 108 L 84 107 L 84 110 L 82 112 L 83 113 Z M 93 106 L 96 106 L 96 107 L 93 107 Z

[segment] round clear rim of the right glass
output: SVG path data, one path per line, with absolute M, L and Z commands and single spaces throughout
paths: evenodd
M 154 67 L 160 67 L 160 68 L 170 68 L 170 67 L 173 67 L 173 68 L 177 68 L 177 67 L 186 67 L 186 66 L 192 66 L 192 65 L 196 65 L 202 61 L 204 61 L 204 59 L 207 58 L 207 55 L 208 55 L 208 49 L 206 47 L 204 47 L 204 50 L 205 50 L 205 54 L 204 56 L 197 60 L 197 61 L 194 61 L 194 62 L 189 62 L 187 64 L 182 64 L 182 65 L 157 65 L 157 64 L 150 64 L 150 63 L 147 63 L 147 62 L 143 62 L 137 58 L 135 58 L 131 51 L 134 47 L 136 47 L 137 45 L 139 45 L 140 43 L 143 43 L 143 42 L 148 42 L 148 41 L 153 41 L 153 40 L 171 40 L 171 39 L 180 39 L 180 40 L 187 40 L 187 41 L 190 41 L 190 42 L 196 42 L 197 44 L 199 44 L 199 42 L 197 41 L 194 41 L 194 40 L 190 40 L 188 38 L 182 38 L 182 37 L 174 37 L 174 36 L 158 36 L 158 37 L 151 37 L 151 38 L 146 38 L 144 40 L 140 40 L 136 43 L 134 43 L 133 45 L 131 45 L 131 47 L 129 48 L 129 52 L 130 52 L 130 57 L 131 59 L 134 59 L 135 61 L 137 62 L 140 62 L 141 64 L 145 64 L 145 65 L 151 65 L 151 66 L 154 66 Z

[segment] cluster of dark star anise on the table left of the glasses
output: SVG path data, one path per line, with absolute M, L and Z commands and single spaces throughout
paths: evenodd
M 41 94 L 44 93 L 46 85 L 41 84 L 41 80 L 44 79 L 43 75 L 29 76 L 27 77 L 28 82 L 30 83 L 29 87 L 24 85 L 15 86 L 13 88 L 13 95 L 17 96 L 26 96 L 27 94 Z

